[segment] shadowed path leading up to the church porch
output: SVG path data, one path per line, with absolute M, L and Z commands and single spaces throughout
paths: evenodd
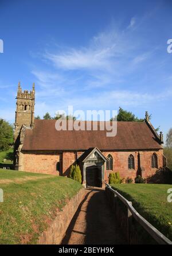
M 87 189 L 62 245 L 118 245 L 126 243 L 117 227 L 104 189 Z

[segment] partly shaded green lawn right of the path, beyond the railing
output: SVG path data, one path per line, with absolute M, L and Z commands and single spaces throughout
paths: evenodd
M 112 184 L 148 222 L 172 241 L 172 203 L 167 202 L 165 184 Z

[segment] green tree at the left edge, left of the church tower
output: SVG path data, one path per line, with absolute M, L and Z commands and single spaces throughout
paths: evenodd
M 8 150 L 13 145 L 13 126 L 0 119 L 0 151 Z

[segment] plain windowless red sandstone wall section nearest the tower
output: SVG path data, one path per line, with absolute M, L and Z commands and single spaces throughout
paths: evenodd
M 22 166 L 20 170 L 25 172 L 37 172 L 46 174 L 58 174 L 56 164 L 59 161 L 59 154 L 52 153 L 23 153 Z

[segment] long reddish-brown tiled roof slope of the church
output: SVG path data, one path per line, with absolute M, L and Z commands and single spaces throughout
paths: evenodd
M 57 131 L 55 123 L 56 120 L 35 120 L 34 128 L 25 131 L 23 150 L 162 149 L 146 122 L 118 122 L 115 137 L 107 137 L 106 130 Z

